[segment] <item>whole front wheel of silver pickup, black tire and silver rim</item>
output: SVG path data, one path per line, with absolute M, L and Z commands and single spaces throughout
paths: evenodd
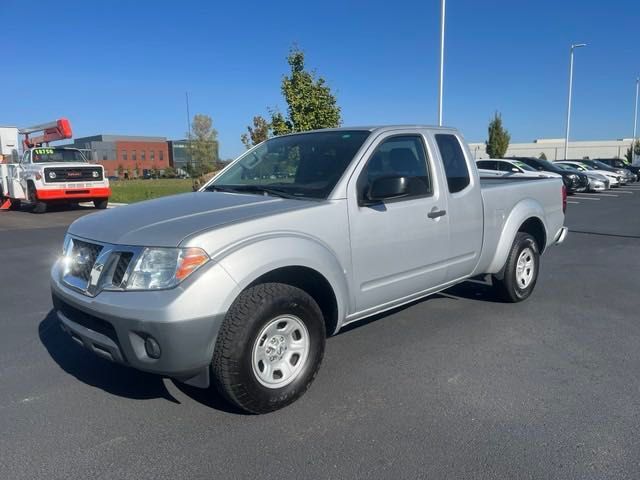
M 313 298 L 280 283 L 250 287 L 233 303 L 218 333 L 214 383 L 243 410 L 278 410 L 307 391 L 324 345 L 324 319 Z

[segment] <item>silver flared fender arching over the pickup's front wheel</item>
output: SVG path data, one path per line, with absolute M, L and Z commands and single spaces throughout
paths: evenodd
M 237 283 L 239 291 L 278 268 L 310 268 L 321 274 L 333 289 L 338 306 L 336 331 L 350 310 L 347 272 L 335 252 L 310 235 L 290 231 L 260 234 L 213 253 L 211 259 L 224 268 Z M 231 307 L 236 296 L 233 293 L 225 299 L 222 311 Z

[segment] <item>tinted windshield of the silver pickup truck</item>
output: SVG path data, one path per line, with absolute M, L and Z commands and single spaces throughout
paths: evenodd
M 206 190 L 327 198 L 370 133 L 339 130 L 271 138 L 240 157 Z

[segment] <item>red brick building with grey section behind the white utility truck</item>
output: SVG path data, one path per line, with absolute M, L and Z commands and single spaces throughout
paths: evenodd
M 104 166 L 107 176 L 135 178 L 169 166 L 165 137 L 93 135 L 66 146 L 84 150 L 91 162 Z

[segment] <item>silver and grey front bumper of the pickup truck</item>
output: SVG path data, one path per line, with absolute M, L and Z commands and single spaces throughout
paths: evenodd
M 224 320 L 227 295 L 237 286 L 216 264 L 207 265 L 178 287 L 160 291 L 103 291 L 89 297 L 51 270 L 51 293 L 62 329 L 95 354 L 138 370 L 199 387 L 209 384 L 208 366 Z M 152 337 L 159 358 L 145 349 Z

